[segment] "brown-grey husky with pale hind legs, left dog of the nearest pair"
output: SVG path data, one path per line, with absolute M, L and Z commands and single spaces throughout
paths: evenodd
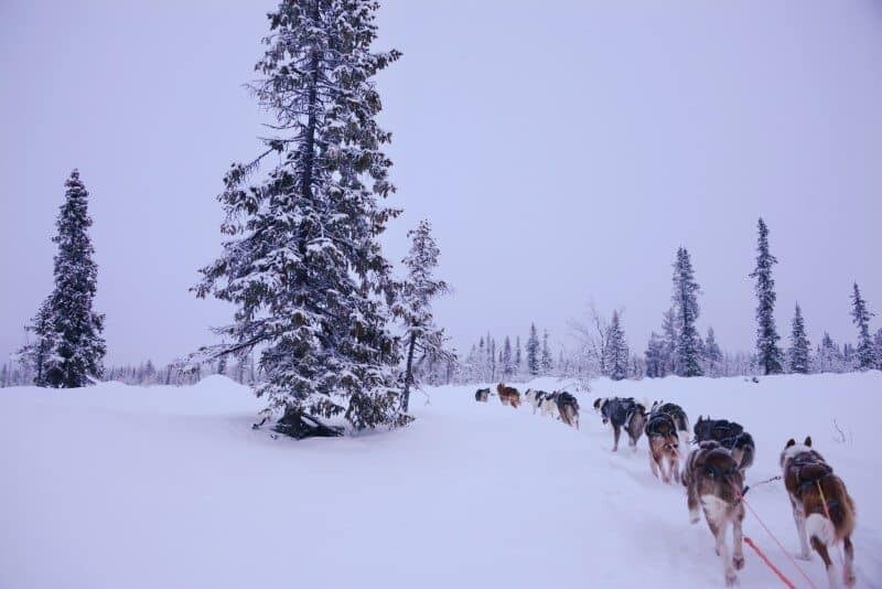
M 701 442 L 686 461 L 682 484 L 686 485 L 689 521 L 696 524 L 701 518 L 700 505 L 713 534 L 717 555 L 723 560 L 725 585 L 732 587 L 738 582 L 735 570 L 744 568 L 741 532 L 744 520 L 744 504 L 741 502 L 744 475 L 738 468 L 738 461 L 719 442 Z M 732 551 L 725 542 L 729 524 L 732 524 Z

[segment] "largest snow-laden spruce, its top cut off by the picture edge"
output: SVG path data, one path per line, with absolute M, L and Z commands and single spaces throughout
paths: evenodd
M 377 8 L 283 0 L 268 14 L 251 89 L 277 136 L 224 178 L 228 239 L 195 287 L 237 307 L 217 330 L 230 343 L 212 357 L 257 350 L 256 393 L 268 413 L 283 411 L 277 429 L 295 437 L 326 431 L 321 419 L 340 415 L 356 429 L 407 421 L 388 329 L 395 288 L 378 243 L 398 214 L 380 204 L 394 191 L 381 151 L 390 133 L 377 125 L 373 82 L 400 54 L 372 52 Z

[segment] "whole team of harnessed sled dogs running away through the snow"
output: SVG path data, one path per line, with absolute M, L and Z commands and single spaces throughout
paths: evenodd
M 499 384 L 496 394 L 503 405 L 520 406 L 520 393 Z M 478 389 L 475 400 L 488 401 L 490 388 Z M 528 389 L 524 397 L 542 415 L 559 417 L 569 426 L 579 427 L 579 403 L 567 392 L 546 393 Z M 717 554 L 723 563 L 727 586 L 738 582 L 736 570 L 744 567 L 743 496 L 746 470 L 753 464 L 756 447 L 753 437 L 741 424 L 727 419 L 699 417 L 689 437 L 689 418 L 682 407 L 673 403 L 647 401 L 632 397 L 607 397 L 594 400 L 594 410 L 604 424 L 612 426 L 613 451 L 619 450 L 622 430 L 628 446 L 636 450 L 637 441 L 646 435 L 649 443 L 649 469 L 665 483 L 686 486 L 689 520 L 698 523 L 701 512 L 713 535 Z M 696 445 L 680 464 L 689 443 Z M 854 502 L 846 484 L 833 473 L 824 458 L 811 447 L 811 437 L 803 443 L 793 438 L 784 446 L 779 459 L 782 479 L 793 507 L 796 532 L 799 536 L 799 558 L 810 559 L 809 546 L 824 561 L 831 588 L 854 586 Z M 727 543 L 727 532 L 732 526 L 732 547 Z M 843 571 L 840 577 L 830 558 L 830 548 L 843 546 Z

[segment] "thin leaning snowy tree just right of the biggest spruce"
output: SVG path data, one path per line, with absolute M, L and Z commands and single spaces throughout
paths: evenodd
M 411 239 L 410 253 L 401 260 L 407 269 L 407 278 L 398 285 L 392 313 L 405 325 L 405 390 L 401 395 L 401 410 L 407 413 L 410 401 L 410 387 L 415 382 L 413 357 L 420 354 L 430 364 L 451 360 L 444 347 L 444 330 L 434 324 L 432 299 L 450 291 L 447 282 L 434 278 L 438 267 L 438 248 L 432 237 L 432 226 L 423 219 L 416 229 L 408 232 Z M 507 340 L 506 340 L 507 343 Z

